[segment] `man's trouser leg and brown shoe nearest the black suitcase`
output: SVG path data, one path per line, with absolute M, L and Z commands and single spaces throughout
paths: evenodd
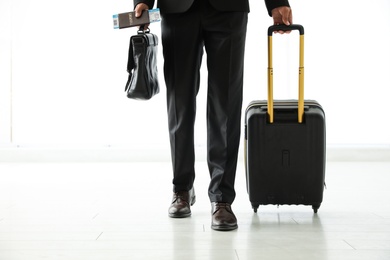
M 240 143 L 247 13 L 221 13 L 205 3 L 204 39 L 207 52 L 208 165 L 212 228 L 232 230 L 231 209 Z

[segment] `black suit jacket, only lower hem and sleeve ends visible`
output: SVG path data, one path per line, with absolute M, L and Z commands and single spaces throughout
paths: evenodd
M 249 12 L 249 0 L 209 0 L 215 9 L 222 12 Z M 139 3 L 145 3 L 150 9 L 155 0 L 134 0 L 134 7 Z M 183 13 L 187 11 L 194 0 L 158 0 L 157 7 L 161 13 Z M 279 6 L 289 6 L 288 0 L 265 0 L 268 13 Z

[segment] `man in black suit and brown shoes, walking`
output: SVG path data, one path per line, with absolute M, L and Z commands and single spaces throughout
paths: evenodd
M 155 0 L 134 0 L 136 16 Z M 274 23 L 292 23 L 288 0 L 265 0 Z M 248 0 L 158 0 L 173 165 L 170 217 L 191 215 L 195 203 L 194 122 L 203 49 L 207 53 L 207 161 L 211 227 L 233 230 L 231 209 L 240 142 Z

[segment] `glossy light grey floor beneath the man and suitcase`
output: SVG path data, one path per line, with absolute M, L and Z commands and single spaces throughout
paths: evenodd
M 390 162 L 329 162 L 318 211 L 261 206 L 244 167 L 233 204 L 239 228 L 210 228 L 205 162 L 197 202 L 171 219 L 170 163 L 1 163 L 0 260 L 390 259 Z

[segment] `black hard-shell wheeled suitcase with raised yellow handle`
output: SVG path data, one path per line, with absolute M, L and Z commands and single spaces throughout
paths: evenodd
M 272 33 L 299 30 L 299 98 L 273 100 Z M 301 25 L 268 29 L 268 100 L 253 101 L 245 112 L 245 166 L 249 200 L 259 205 L 311 205 L 317 213 L 325 185 L 325 114 L 303 98 Z

